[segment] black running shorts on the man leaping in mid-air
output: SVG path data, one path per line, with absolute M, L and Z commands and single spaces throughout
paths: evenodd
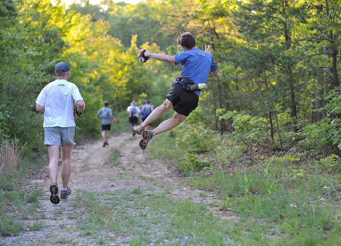
M 166 98 L 172 102 L 174 111 L 184 116 L 189 116 L 199 102 L 199 96 L 184 90 L 181 83 L 173 84 Z

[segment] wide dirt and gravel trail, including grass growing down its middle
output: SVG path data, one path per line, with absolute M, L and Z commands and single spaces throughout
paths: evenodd
M 28 177 L 23 189 L 42 195 L 36 203 L 24 204 L 27 213 L 14 215 L 25 223 L 24 232 L 1 237 L 0 245 L 186 245 L 193 236 L 179 237 L 172 221 L 182 210 L 186 216 L 206 211 L 201 219 L 212 216 L 212 210 L 219 214 L 217 208 L 203 207 L 217 195 L 191 190 L 174 166 L 140 150 L 139 140 L 123 133 L 112 136 L 106 147 L 102 140 L 77 144 L 72 151 L 72 193 L 57 205 L 49 201 L 47 165 Z

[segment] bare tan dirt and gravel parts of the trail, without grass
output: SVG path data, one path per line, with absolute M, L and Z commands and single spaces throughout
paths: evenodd
M 72 151 L 72 173 L 69 186 L 72 191 L 84 190 L 90 192 L 112 191 L 116 189 L 128 189 L 140 187 L 142 190 L 148 186 L 150 179 L 157 180 L 160 186 L 155 187 L 154 192 L 164 192 L 162 184 L 172 187 L 171 196 L 175 199 L 187 199 L 191 197 L 194 203 L 210 203 L 216 197 L 211 193 L 205 199 L 198 195 L 199 190 L 190 190 L 176 176 L 174 167 L 155 159 L 150 159 L 148 151 L 142 151 L 138 142 L 139 136 L 132 137 L 131 134 L 123 133 L 119 136 L 111 136 L 109 146 L 103 147 L 102 140 L 91 141 L 85 144 L 77 144 Z M 120 153 L 117 166 L 105 164 L 108 161 L 112 150 L 116 149 Z M 61 163 L 61 160 L 60 160 Z M 60 167 L 58 173 L 58 186 L 61 189 Z M 48 191 L 50 179 L 47 166 L 45 170 L 38 172 L 35 177 L 28 180 L 28 187 L 42 188 L 45 197 L 39 200 L 42 208 L 37 213 L 43 213 L 42 219 L 25 219 L 25 224 L 42 222 L 44 229 L 40 231 L 21 232 L 18 236 L 0 238 L 0 245 L 58 245 L 63 244 L 63 233 L 69 233 L 68 228 L 79 224 L 79 219 L 68 218 L 68 214 L 76 212 L 78 208 L 71 206 L 74 196 L 71 194 L 68 199 L 60 200 L 58 205 L 51 204 L 49 201 L 50 192 Z M 25 188 L 28 188 L 25 187 Z M 26 205 L 25 205 L 26 206 Z M 29 206 L 27 206 L 29 207 Z M 212 208 L 213 209 L 213 208 Z M 60 214 L 56 217 L 56 211 Z M 217 210 L 217 208 L 215 208 Z M 216 211 L 216 215 L 222 214 Z M 70 216 L 69 216 L 70 217 Z M 57 230 L 56 230 L 57 229 Z M 80 236 L 72 230 L 73 238 L 79 245 L 91 245 L 93 242 L 87 241 L 89 238 Z M 49 238 L 61 238 L 60 242 L 51 242 Z M 120 243 L 117 239 L 114 243 Z M 114 244 L 115 245 L 115 244 Z

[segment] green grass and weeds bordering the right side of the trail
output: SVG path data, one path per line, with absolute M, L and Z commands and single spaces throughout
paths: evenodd
M 164 157 L 165 162 L 168 156 L 174 159 L 175 155 L 181 160 L 179 151 L 167 146 L 170 141 L 174 139 L 160 135 L 153 143 L 161 146 L 158 150 L 161 154 L 156 156 Z M 182 159 L 185 154 L 183 151 Z M 238 242 L 241 245 L 338 245 L 341 240 L 338 170 L 326 173 L 323 166 L 309 164 L 310 157 L 302 154 L 271 159 L 252 157 L 251 164 L 240 166 L 236 163 L 240 154 L 236 145 L 205 154 L 212 157 L 214 167 L 190 172 L 186 182 L 191 189 L 218 194 L 221 201 L 211 206 L 238 216 L 239 221 L 229 227 L 234 231 L 229 234 L 232 245 Z M 191 162 L 188 160 L 187 164 Z M 205 198 L 205 193 L 199 196 Z M 322 197 L 326 202 L 320 201 Z M 238 234 L 244 241 L 234 238 Z

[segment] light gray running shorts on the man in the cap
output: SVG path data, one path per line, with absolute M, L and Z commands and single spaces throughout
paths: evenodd
M 76 127 L 44 127 L 44 145 L 75 145 Z

